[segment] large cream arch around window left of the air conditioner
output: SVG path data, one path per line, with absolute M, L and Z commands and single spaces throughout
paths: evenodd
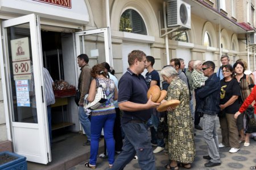
M 112 30 L 119 31 L 121 15 L 127 9 L 133 9 L 141 15 L 144 23 L 146 24 L 147 35 L 159 37 L 158 19 L 156 19 L 155 15 L 152 15 L 155 14 L 155 12 L 150 3 L 146 0 L 114 1 L 110 12 L 110 23 Z

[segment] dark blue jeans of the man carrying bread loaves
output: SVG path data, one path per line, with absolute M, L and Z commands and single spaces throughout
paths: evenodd
M 122 152 L 115 159 L 113 170 L 123 169 L 129 164 L 135 154 L 138 156 L 139 166 L 142 170 L 155 169 L 155 157 L 152 152 L 150 136 L 147 125 L 142 123 L 126 123 L 122 125 L 125 132 L 125 143 Z

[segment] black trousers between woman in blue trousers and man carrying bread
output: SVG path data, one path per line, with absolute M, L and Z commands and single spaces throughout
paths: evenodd
M 123 139 L 121 132 L 121 121 L 120 121 L 120 109 L 115 108 L 115 123 L 114 123 L 114 140 L 115 140 L 115 151 L 122 151 Z M 104 155 L 108 155 L 106 151 L 106 141 L 104 139 Z

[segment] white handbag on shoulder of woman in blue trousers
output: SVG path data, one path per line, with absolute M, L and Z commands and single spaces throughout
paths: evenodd
M 88 102 L 87 101 L 87 94 L 85 95 L 85 99 L 84 99 L 84 109 L 86 111 L 86 109 L 90 109 L 90 110 L 95 110 L 97 109 L 100 105 L 102 105 L 102 103 L 106 102 L 107 98 L 106 98 L 106 94 L 102 88 L 102 85 L 100 85 L 100 83 L 98 82 L 98 78 L 95 79 L 96 80 L 96 95 L 94 97 L 94 101 L 92 102 Z

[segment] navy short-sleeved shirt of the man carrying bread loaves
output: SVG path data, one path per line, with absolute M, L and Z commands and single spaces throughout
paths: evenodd
M 147 83 L 145 78 L 139 74 L 133 73 L 130 69 L 123 74 L 118 82 L 118 103 L 134 102 L 134 103 L 147 103 Z M 125 111 L 121 123 L 127 123 L 133 119 L 140 121 L 147 121 L 151 117 L 152 109 L 138 110 L 138 111 Z

